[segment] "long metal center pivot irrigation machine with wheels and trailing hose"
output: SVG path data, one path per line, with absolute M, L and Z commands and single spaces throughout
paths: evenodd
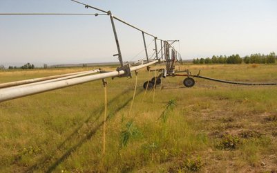
M 182 57 L 178 51 L 175 50 L 173 44 L 179 42 L 179 40 L 163 40 L 157 38 L 155 35 L 145 32 L 144 30 L 133 26 L 126 21 L 115 17 L 111 11 L 101 10 L 93 6 L 89 6 L 85 3 L 79 1 L 71 0 L 75 3 L 83 5 L 85 8 L 92 8 L 102 13 L 0 13 L 0 15 L 95 15 L 95 16 L 108 16 L 111 20 L 111 26 L 113 28 L 113 33 L 115 36 L 115 44 L 117 46 L 117 53 L 113 55 L 117 57 L 120 66 L 117 67 L 115 71 L 102 71 L 102 70 L 93 70 L 93 71 L 82 71 L 77 73 L 68 73 L 64 75 L 55 75 L 45 78 L 36 78 L 31 80 L 21 80 L 17 82 L 8 82 L 0 84 L 0 102 L 6 100 L 12 100 L 15 98 L 21 98 L 27 95 L 32 95 L 35 93 L 42 93 L 46 91 L 51 91 L 54 89 L 61 89 L 67 86 L 73 86 L 75 84 L 82 84 L 85 82 L 90 82 L 94 80 L 103 80 L 103 83 L 106 84 L 105 78 L 115 78 L 115 77 L 132 77 L 132 71 L 147 68 L 148 71 L 154 71 L 150 69 L 150 66 L 153 64 L 165 64 L 165 68 L 155 69 L 157 75 L 150 81 L 144 82 L 144 89 L 153 89 L 157 84 L 161 84 L 161 78 L 166 77 L 175 77 L 182 76 L 184 78 L 184 86 L 191 87 L 195 84 L 193 78 L 202 78 L 206 80 L 213 80 L 216 82 L 225 82 L 229 84 L 246 84 L 246 85 L 276 85 L 277 83 L 243 83 L 243 82 L 230 82 L 225 80 L 217 80 L 213 78 L 207 78 L 200 76 L 200 71 L 198 75 L 192 75 L 189 70 L 185 71 L 175 71 L 175 63 L 182 63 Z M 120 49 L 120 42 L 117 37 L 117 32 L 115 28 L 115 20 L 120 21 L 131 28 L 138 30 L 142 33 L 142 39 L 144 43 L 144 50 L 146 58 L 140 60 L 134 64 L 128 64 L 122 60 L 122 52 Z M 149 57 L 145 35 L 153 37 L 153 42 L 155 42 L 155 49 L 152 56 Z M 160 51 L 157 48 L 157 42 L 160 41 Z M 95 74 L 98 73 L 98 74 Z

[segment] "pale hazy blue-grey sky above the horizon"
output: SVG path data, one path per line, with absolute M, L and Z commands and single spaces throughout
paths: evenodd
M 180 50 L 183 59 L 277 53 L 276 0 L 82 2 L 111 10 L 115 16 L 161 39 L 180 39 L 180 45 L 175 44 L 175 48 Z M 0 0 L 0 12 L 96 11 L 70 0 Z M 115 25 L 123 60 L 145 57 L 142 33 L 118 21 Z M 152 40 L 152 37 L 146 38 L 149 52 L 154 48 Z M 107 16 L 0 15 L 0 64 L 114 62 L 117 61 L 113 57 L 115 53 L 111 21 Z

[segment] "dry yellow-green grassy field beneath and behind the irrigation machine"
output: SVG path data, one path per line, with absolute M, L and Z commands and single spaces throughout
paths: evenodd
M 96 68 L 96 67 L 95 67 Z M 93 67 L 0 71 L 0 83 Z M 115 69 L 106 67 L 102 69 Z M 155 69 L 155 66 L 152 67 Z M 197 74 L 277 82 L 277 66 L 193 65 Z M 155 72 L 88 82 L 0 103 L 0 172 L 277 172 L 277 86 L 239 86 L 184 77 L 142 84 Z

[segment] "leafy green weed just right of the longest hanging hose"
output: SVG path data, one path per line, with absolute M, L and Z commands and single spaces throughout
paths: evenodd
M 120 134 L 120 148 L 126 147 L 130 138 L 134 138 L 140 134 L 139 129 L 133 124 L 133 120 L 128 121 L 125 127 Z

